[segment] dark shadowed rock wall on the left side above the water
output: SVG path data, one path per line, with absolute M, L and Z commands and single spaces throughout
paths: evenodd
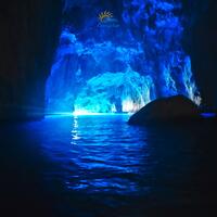
M 0 8 L 0 119 L 39 117 L 61 27 L 61 0 L 4 1 Z

